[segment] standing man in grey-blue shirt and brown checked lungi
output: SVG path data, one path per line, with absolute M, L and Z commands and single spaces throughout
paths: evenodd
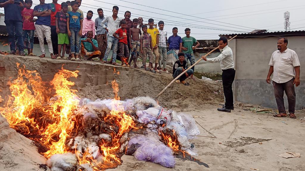
M 99 51 L 101 52 L 101 56 L 99 57 L 99 61 L 103 61 L 106 48 L 107 48 L 107 31 L 104 27 L 102 27 L 101 23 L 105 19 L 103 9 L 97 9 L 97 13 L 99 17 L 95 19 L 95 29 L 96 29 L 96 37 L 97 43 L 99 45 Z M 107 22 L 105 23 L 107 27 Z

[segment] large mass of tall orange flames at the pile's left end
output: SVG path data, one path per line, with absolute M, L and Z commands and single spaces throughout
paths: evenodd
M 51 81 L 51 86 L 55 89 L 55 100 L 52 101 L 51 89 L 42 82 L 39 74 L 25 70 L 24 66 L 19 68 L 19 65 L 17 63 L 17 79 L 9 82 L 11 96 L 5 107 L 0 108 L 0 114 L 8 120 L 10 127 L 44 144 L 48 148 L 44 153 L 46 157 L 65 153 L 64 142 L 74 124 L 70 116 L 79 103 L 75 94 L 77 91 L 70 89 L 74 83 L 68 81 L 68 78 L 77 77 L 78 71 L 71 72 L 62 68 L 56 73 Z M 49 101 L 52 104 L 47 105 Z

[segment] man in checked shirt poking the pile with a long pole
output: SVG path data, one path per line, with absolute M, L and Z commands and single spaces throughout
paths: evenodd
M 219 49 L 221 54 L 216 58 L 206 58 L 202 56 L 201 58 L 205 61 L 214 63 L 220 62 L 220 68 L 222 69 L 222 85 L 224 87 L 224 98 L 225 103 L 222 108 L 218 108 L 221 112 L 231 112 L 234 110 L 233 106 L 233 91 L 232 84 L 235 78 L 233 52 L 230 47 L 228 47 L 228 40 L 225 37 L 221 37 L 218 40 Z

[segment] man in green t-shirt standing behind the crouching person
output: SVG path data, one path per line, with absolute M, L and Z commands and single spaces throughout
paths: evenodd
M 191 62 L 191 65 L 195 64 L 195 57 L 193 55 L 193 50 L 197 48 L 200 43 L 194 38 L 191 37 L 191 29 L 186 28 L 185 30 L 186 36 L 182 38 L 183 47 L 182 50 L 185 54 L 185 60 L 188 62 L 188 60 Z M 193 44 L 196 43 L 196 45 L 193 47 Z M 192 67 L 192 70 L 194 71 L 195 66 Z M 191 79 L 194 79 L 193 74 L 191 75 Z

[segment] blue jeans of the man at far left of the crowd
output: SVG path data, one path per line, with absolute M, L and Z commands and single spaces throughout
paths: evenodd
M 7 20 L 4 21 L 6 25 L 7 33 L 9 34 L 9 47 L 11 51 L 16 52 L 16 44 L 15 44 L 15 34 L 18 42 L 19 52 L 23 52 L 23 29 L 22 29 L 22 21 L 16 20 Z

